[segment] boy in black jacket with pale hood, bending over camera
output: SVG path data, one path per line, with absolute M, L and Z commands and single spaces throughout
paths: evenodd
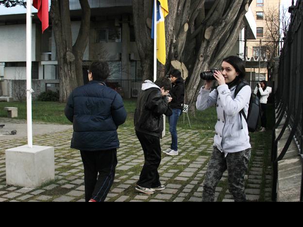
M 145 81 L 142 92 L 137 100 L 135 110 L 135 131 L 144 151 L 145 163 L 135 190 L 144 194 L 161 191 L 165 186 L 160 183 L 158 168 L 161 162 L 163 114 L 171 115 L 168 103 L 171 97 L 166 97 L 171 89 L 168 78 L 160 78 L 155 83 Z

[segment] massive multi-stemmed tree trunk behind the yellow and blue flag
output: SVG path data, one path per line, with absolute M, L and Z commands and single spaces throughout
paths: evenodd
M 196 97 L 202 86 L 200 73 L 210 66 L 219 66 L 236 43 L 243 18 L 252 0 L 216 0 L 212 8 L 205 10 L 205 0 L 168 0 L 169 14 L 166 17 L 167 64 L 158 64 L 158 75 L 171 69 L 171 61 L 183 62 L 189 69 L 186 80 L 186 100 L 191 112 L 195 110 Z M 152 18 L 150 0 L 133 0 L 136 43 L 143 65 L 145 78 L 152 78 L 151 30 L 145 23 Z M 207 13 L 207 14 L 206 14 Z M 153 54 L 152 54 L 153 56 Z M 150 63 L 148 63 L 150 61 Z

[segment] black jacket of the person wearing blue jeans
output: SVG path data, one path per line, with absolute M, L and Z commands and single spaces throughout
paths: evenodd
M 183 80 L 177 80 L 169 92 L 172 101 L 169 103 L 171 109 L 183 110 L 184 97 L 185 97 L 185 84 Z

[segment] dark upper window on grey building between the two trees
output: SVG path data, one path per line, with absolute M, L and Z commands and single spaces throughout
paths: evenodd
M 121 28 L 96 30 L 96 43 L 121 43 Z

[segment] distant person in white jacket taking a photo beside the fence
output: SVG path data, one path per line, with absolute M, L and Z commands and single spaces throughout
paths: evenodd
M 272 88 L 267 86 L 267 81 L 261 81 L 255 88 L 254 94 L 257 95 L 261 103 L 261 129 L 260 132 L 265 132 L 267 127 L 267 102 Z

